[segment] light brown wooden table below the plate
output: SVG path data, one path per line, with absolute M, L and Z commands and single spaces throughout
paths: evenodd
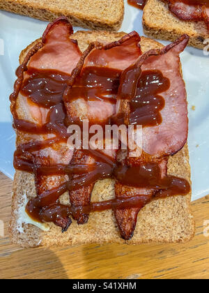
M 209 278 L 209 196 L 192 203 L 196 236 L 186 244 L 74 246 L 23 249 L 8 239 L 12 181 L 0 173 L 0 278 Z M 209 232 L 209 229 L 208 229 Z

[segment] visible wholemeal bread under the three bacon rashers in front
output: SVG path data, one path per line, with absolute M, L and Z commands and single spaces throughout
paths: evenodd
M 95 40 L 112 42 L 120 39 L 124 33 L 108 33 L 97 31 L 79 31 L 72 35 L 77 39 L 82 51 L 89 43 Z M 36 41 L 38 42 L 38 41 Z M 29 45 L 20 55 L 20 63 L 24 60 L 35 43 Z M 141 49 L 146 52 L 162 45 L 155 40 L 141 38 Z M 17 142 L 21 135 L 17 133 Z M 169 158 L 168 172 L 181 176 L 190 181 L 189 153 L 187 145 L 175 156 Z M 24 209 L 26 200 L 36 197 L 34 176 L 26 172 L 17 171 L 13 188 L 12 218 L 10 220 L 10 237 L 13 243 L 20 246 L 63 246 L 79 243 L 127 243 L 139 244 L 150 241 L 156 242 L 184 242 L 194 236 L 194 219 L 189 202 L 191 193 L 184 196 L 156 200 L 144 207 L 139 213 L 137 227 L 130 241 L 121 239 L 114 211 L 91 213 L 88 223 L 77 225 L 72 221 L 68 232 L 61 234 L 61 229 L 54 224 L 49 224 L 50 230 L 44 232 L 31 224 L 22 224 L 20 212 Z M 92 202 L 114 198 L 114 180 L 105 179 L 98 181 L 92 194 Z M 61 197 L 63 204 L 68 204 L 68 195 Z

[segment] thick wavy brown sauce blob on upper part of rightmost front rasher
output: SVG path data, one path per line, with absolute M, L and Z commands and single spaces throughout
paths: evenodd
M 160 93 L 170 87 L 170 81 L 160 70 L 146 70 L 131 66 L 121 75 L 118 95 L 121 100 L 130 100 L 129 124 L 157 126 L 162 123 L 160 111 L 164 108 L 164 98 Z M 121 116 L 118 117 L 121 123 Z

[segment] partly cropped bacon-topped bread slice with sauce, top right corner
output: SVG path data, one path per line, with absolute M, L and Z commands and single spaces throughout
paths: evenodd
M 203 49 L 209 39 L 208 0 L 148 0 L 143 15 L 144 32 L 152 38 L 173 41 L 183 33 L 189 45 Z

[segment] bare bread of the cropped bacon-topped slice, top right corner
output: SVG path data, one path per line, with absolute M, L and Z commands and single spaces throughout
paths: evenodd
M 190 37 L 189 45 L 203 49 L 209 38 L 205 22 L 190 22 L 179 20 L 169 11 L 168 4 L 162 0 L 148 0 L 143 15 L 144 33 L 151 38 L 161 40 L 176 40 L 183 33 Z

